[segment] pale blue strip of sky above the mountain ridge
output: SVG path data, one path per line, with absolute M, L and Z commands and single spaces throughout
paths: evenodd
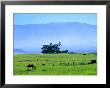
M 14 25 L 45 24 L 53 22 L 81 22 L 96 25 L 96 13 L 33 13 L 14 14 Z

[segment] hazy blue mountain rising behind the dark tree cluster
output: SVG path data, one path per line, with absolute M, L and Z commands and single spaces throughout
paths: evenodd
M 14 25 L 14 51 L 17 53 L 40 53 L 42 45 L 50 41 L 61 41 L 62 47 L 73 52 L 96 52 L 97 26 L 79 22 Z

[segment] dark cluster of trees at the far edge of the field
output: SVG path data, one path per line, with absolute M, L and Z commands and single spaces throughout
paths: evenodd
M 61 51 L 60 46 L 62 46 L 61 42 L 59 42 L 58 44 L 50 43 L 49 45 L 43 45 L 43 47 L 41 48 L 42 49 L 41 53 L 45 54 L 45 53 L 67 53 L 68 52 L 68 50 Z

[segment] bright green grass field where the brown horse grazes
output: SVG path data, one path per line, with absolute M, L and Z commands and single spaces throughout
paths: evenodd
M 79 54 L 16 54 L 14 55 L 14 75 L 96 75 L 97 64 L 94 53 Z M 81 65 L 83 63 L 83 65 Z M 27 65 L 34 64 L 36 69 L 27 71 Z M 43 65 L 45 64 L 45 65 Z

